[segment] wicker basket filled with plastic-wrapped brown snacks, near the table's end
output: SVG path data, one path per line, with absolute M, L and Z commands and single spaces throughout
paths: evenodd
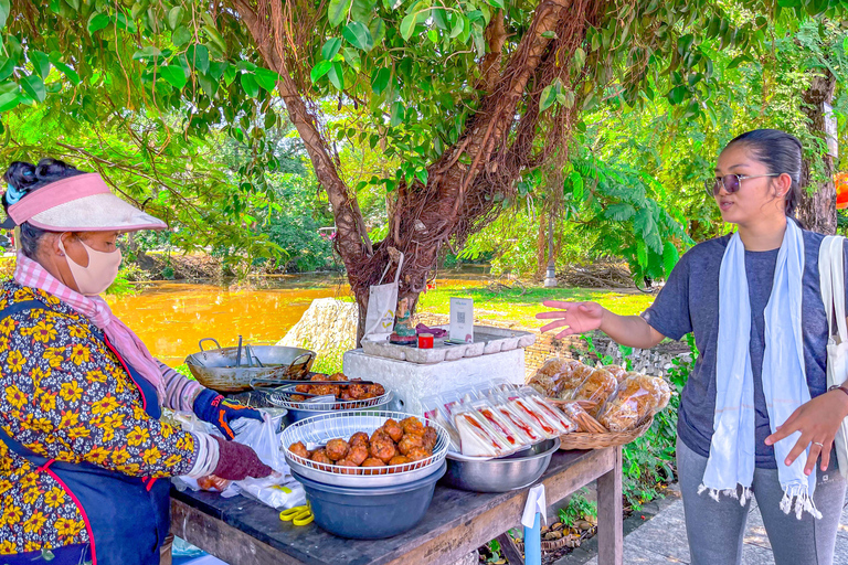
M 574 422 L 560 449 L 600 449 L 629 444 L 668 405 L 661 377 L 621 366 L 591 367 L 573 359 L 549 359 L 528 382 Z

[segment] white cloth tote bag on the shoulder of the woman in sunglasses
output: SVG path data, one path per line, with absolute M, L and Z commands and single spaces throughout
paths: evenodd
M 822 301 L 827 312 L 827 386 L 840 385 L 848 377 L 848 326 L 845 320 L 845 238 L 828 236 L 818 250 Z M 838 340 L 837 340 L 838 338 Z M 839 472 L 848 478 L 848 418 L 836 430 L 836 457 Z

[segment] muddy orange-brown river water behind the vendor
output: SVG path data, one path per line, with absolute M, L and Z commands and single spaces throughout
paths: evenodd
M 439 280 L 467 286 L 469 280 Z M 471 282 L 474 285 L 474 282 Z M 477 282 L 481 284 L 481 282 Z M 176 366 L 200 351 L 198 342 L 215 338 L 221 347 L 273 345 L 300 319 L 316 298 L 351 300 L 344 279 L 274 277 L 262 288 L 153 282 L 135 296 L 110 299 L 113 312 L 147 344 L 153 356 Z M 214 348 L 211 342 L 204 348 Z

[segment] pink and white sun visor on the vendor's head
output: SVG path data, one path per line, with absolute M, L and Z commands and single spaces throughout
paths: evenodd
M 51 232 L 136 232 L 167 224 L 114 195 L 96 172 L 68 177 L 36 189 L 9 206 L 0 227 L 29 222 Z

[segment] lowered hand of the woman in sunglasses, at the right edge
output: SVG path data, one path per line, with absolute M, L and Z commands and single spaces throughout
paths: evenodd
M 822 456 L 822 470 L 827 470 L 830 463 L 830 449 L 839 425 L 848 416 L 848 395 L 842 391 L 830 391 L 798 406 L 786 418 L 782 426 L 777 426 L 774 434 L 765 438 L 766 445 L 774 445 L 795 431 L 801 431 L 801 437 L 792 448 L 784 461 L 787 466 L 809 446 L 809 456 L 804 472 L 809 475 L 816 467 L 818 456 Z

